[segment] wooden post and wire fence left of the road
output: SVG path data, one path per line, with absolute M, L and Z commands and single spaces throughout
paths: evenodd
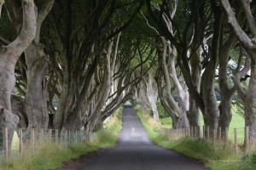
M 8 161 L 11 156 L 33 154 L 42 144 L 69 144 L 90 142 L 96 139 L 96 133 L 86 135 L 84 130 L 55 130 L 17 128 L 10 139 L 8 127 L 0 127 L 0 160 Z M 10 141 L 12 143 L 10 144 Z

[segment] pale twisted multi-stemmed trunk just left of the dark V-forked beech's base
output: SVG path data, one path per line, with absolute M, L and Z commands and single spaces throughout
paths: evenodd
M 166 42 L 162 37 L 163 53 L 160 56 L 160 66 L 158 73 L 158 89 L 160 93 L 160 101 L 166 111 L 169 112 L 172 117 L 173 128 L 183 128 L 189 127 L 189 119 L 187 116 L 187 111 L 189 111 L 189 96 L 188 93 L 183 90 L 182 85 L 177 79 L 177 72 L 175 68 L 175 55 L 177 54 L 176 48 L 171 45 L 171 42 Z M 170 66 L 168 68 L 166 56 L 169 59 Z M 162 82 L 160 78 L 160 72 L 162 71 L 163 79 L 166 82 L 166 100 L 164 99 L 164 94 L 162 90 Z M 177 89 L 178 100 L 177 103 L 172 97 L 172 86 L 171 79 Z

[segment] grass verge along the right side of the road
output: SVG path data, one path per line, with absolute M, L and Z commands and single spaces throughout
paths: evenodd
M 236 153 L 232 143 L 213 143 L 209 140 L 164 135 L 161 133 L 160 123 L 154 122 L 148 114 L 138 110 L 137 115 L 155 144 L 202 161 L 206 167 L 214 170 L 256 169 L 256 152 L 253 150 Z

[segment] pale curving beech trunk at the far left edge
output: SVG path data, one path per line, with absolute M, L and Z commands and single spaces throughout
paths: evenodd
M 36 14 L 33 0 L 23 0 L 23 26 L 19 37 L 7 47 L 0 48 L 0 126 L 9 127 L 9 151 L 13 134 L 19 122 L 12 113 L 11 94 L 15 88 L 15 64 L 20 54 L 29 46 L 36 34 Z M 3 134 L 0 133 L 0 147 L 3 146 Z

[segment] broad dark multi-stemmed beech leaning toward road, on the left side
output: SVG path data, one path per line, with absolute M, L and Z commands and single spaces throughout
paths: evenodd
M 97 77 L 94 73 L 99 69 L 98 66 L 101 60 L 107 57 L 104 51 L 109 51 L 109 48 L 112 49 L 109 43 L 113 42 L 109 42 L 109 40 L 131 24 L 131 20 L 133 20 L 142 4 L 142 2 L 135 1 L 122 3 L 113 0 L 90 1 L 90 3 L 62 1 L 59 5 L 58 8 L 60 8 L 64 17 L 61 16 L 61 13 L 54 14 L 55 31 L 61 42 L 61 56 L 64 62 L 61 65 L 63 84 L 61 85 L 59 105 L 55 112 L 55 128 L 79 129 L 83 124 L 88 124 L 86 121 L 88 117 L 96 118 L 92 116 L 95 114 L 92 114 L 84 118 L 85 122 L 81 122 L 82 119 L 79 117 L 84 115 L 81 105 L 87 103 L 86 98 L 90 96 L 91 82 L 94 82 L 94 78 Z M 85 7 L 87 10 L 81 7 Z M 78 10 L 73 10 L 73 8 Z M 127 8 L 130 9 L 129 13 Z M 121 19 L 124 16 L 127 19 L 125 22 Z M 59 20 L 59 17 L 61 20 Z M 76 20 L 77 17 L 84 17 L 84 22 L 81 23 Z M 64 23 L 64 32 L 58 26 L 62 23 Z M 76 27 L 73 24 L 76 24 Z M 107 46 L 108 48 L 106 48 Z M 98 71 L 99 74 L 101 74 L 100 72 Z M 103 73 L 108 75 L 106 71 L 103 71 Z M 104 91 L 103 93 L 108 92 Z M 102 99 L 105 99 L 105 97 Z M 94 105 L 97 108 L 90 105 L 92 110 L 95 110 L 92 112 L 101 110 L 101 105 Z M 75 119 L 80 121 L 73 121 Z M 89 128 L 91 130 L 92 127 Z

